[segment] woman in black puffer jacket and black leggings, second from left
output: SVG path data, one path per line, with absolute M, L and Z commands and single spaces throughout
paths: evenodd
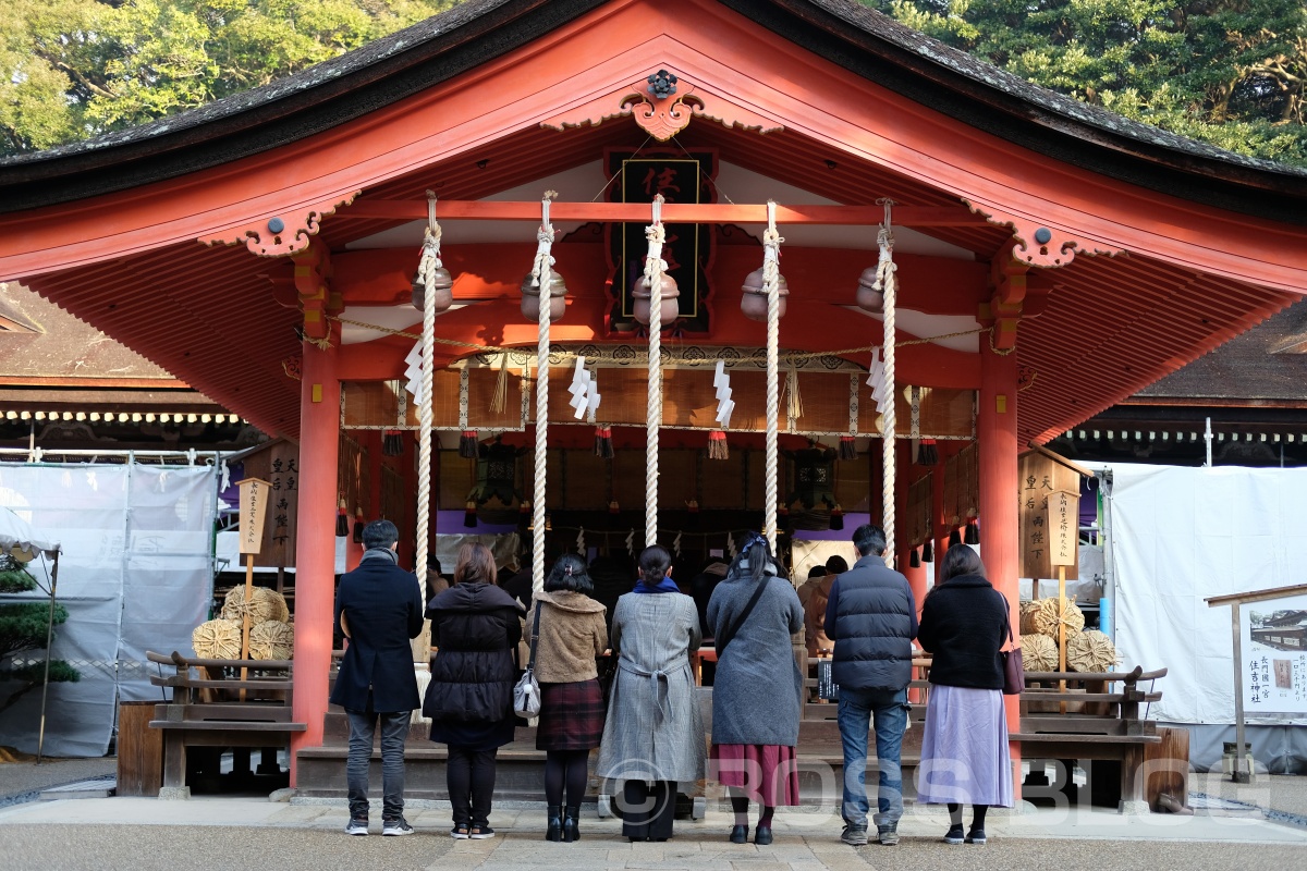
M 485 545 L 464 545 L 454 586 L 426 606 L 431 620 L 431 684 L 422 713 L 431 740 L 448 746 L 446 787 L 456 838 L 494 837 L 490 795 L 494 761 L 512 740 L 512 650 L 521 639 L 521 606 L 495 586 L 494 556 Z

